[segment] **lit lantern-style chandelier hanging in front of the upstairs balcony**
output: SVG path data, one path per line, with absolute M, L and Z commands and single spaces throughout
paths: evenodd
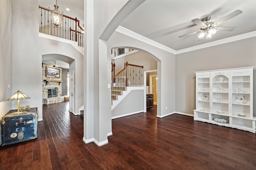
M 52 18 L 52 25 L 54 27 L 60 28 L 62 26 L 62 20 L 63 20 L 63 11 L 59 12 L 59 6 L 56 4 L 54 5 L 54 10 L 51 10 L 50 7 L 48 7 L 50 10 L 51 18 Z

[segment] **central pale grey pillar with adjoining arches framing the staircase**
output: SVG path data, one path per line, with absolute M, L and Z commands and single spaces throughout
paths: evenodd
M 164 117 L 175 111 L 175 98 L 170 98 L 170 96 L 175 96 L 175 55 L 138 39 L 114 33 L 122 21 L 143 2 L 144 0 L 130 0 L 124 6 L 119 6 L 118 9 L 121 9 L 119 12 L 111 11 L 109 15 L 102 16 L 102 11 L 106 12 L 104 9 L 106 5 L 110 5 L 110 2 L 94 4 L 93 1 L 87 1 L 88 36 L 84 63 L 86 66 L 84 71 L 86 115 L 84 116 L 83 141 L 85 143 L 94 142 L 96 145 L 102 146 L 108 143 L 108 135 L 112 135 L 111 89 L 108 88 L 108 84 L 111 84 L 111 73 L 107 72 L 107 70 L 111 70 L 110 47 L 131 47 L 141 49 L 152 57 L 157 56 L 159 58 L 157 62 L 158 93 L 161 94 L 158 98 L 160 107 L 157 107 L 157 112 L 160 115 L 157 116 Z M 98 16 L 102 16 L 102 18 Z M 113 34 L 119 41 L 109 43 Z M 161 78 L 162 76 L 165 78 Z M 161 93 L 161 89 L 165 92 Z

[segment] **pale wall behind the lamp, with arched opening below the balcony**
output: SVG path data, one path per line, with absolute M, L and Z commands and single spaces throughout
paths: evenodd
M 38 5 L 34 0 L 12 3 L 12 88 L 31 97 L 20 105 L 38 107 L 38 119 L 42 120 L 42 55 L 60 54 L 76 60 L 76 112 L 83 105 L 83 56 L 70 44 L 38 37 Z M 12 108 L 16 106 L 13 102 Z

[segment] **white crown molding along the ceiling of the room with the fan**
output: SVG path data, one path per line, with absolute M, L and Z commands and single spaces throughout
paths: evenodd
M 213 41 L 213 42 L 210 42 L 210 43 L 205 43 L 205 44 L 202 44 L 202 45 L 196 45 L 194 47 L 189 47 L 189 48 L 186 48 L 186 49 L 181 49 L 181 50 L 174 50 L 174 49 L 171 49 L 169 47 L 166 47 L 165 45 L 162 45 L 156 41 L 153 41 L 147 37 L 144 37 L 138 33 L 135 33 L 125 27 L 122 27 L 122 26 L 119 26 L 117 29 L 116 29 L 117 32 L 119 33 L 122 33 L 124 35 L 127 35 L 129 37 L 132 37 L 134 39 L 137 39 L 139 41 L 142 41 L 144 43 L 147 43 L 149 45 L 152 45 L 154 47 L 157 47 L 159 49 L 162 49 L 164 51 L 167 51 L 167 52 L 170 52 L 172 54 L 181 54 L 181 53 L 187 53 L 187 52 L 190 52 L 190 51 L 194 51 L 194 50 L 198 50 L 198 49 L 204 49 L 204 48 L 207 48 L 207 47 L 212 47 L 212 46 L 215 46 L 215 45 L 221 45 L 221 44 L 225 44 L 225 43 L 230 43 L 230 42 L 233 42 L 233 41 L 238 41 L 238 40 L 242 40 L 242 39 L 247 39 L 247 38 L 251 38 L 251 37 L 256 37 L 256 31 L 252 31 L 250 33 L 244 33 L 244 34 L 241 34 L 241 35 L 236 35 L 234 37 L 229 37 L 229 38 L 225 38 L 225 39 L 220 39 L 220 40 L 217 40 L 217 41 Z

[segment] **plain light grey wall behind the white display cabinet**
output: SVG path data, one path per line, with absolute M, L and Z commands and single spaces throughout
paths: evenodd
M 193 114 L 196 108 L 195 71 L 256 66 L 255 45 L 253 37 L 176 55 L 176 111 Z

